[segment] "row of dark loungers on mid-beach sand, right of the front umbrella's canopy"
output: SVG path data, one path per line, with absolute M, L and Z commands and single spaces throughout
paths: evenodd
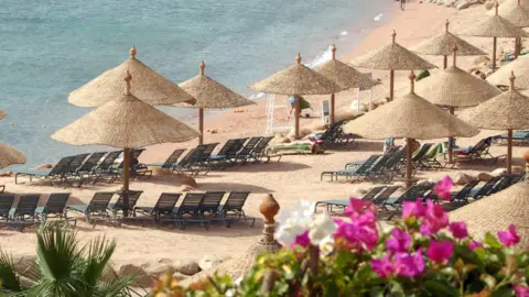
M 228 140 L 217 154 L 213 154 L 219 143 L 202 144 L 187 152 L 179 162 L 185 150 L 175 150 L 164 163 L 148 164 L 168 170 L 186 174 L 207 174 L 215 169 L 225 169 L 236 164 L 268 163 L 272 157 L 278 162 L 281 155 L 269 155 L 267 147 L 273 138 L 251 138 Z

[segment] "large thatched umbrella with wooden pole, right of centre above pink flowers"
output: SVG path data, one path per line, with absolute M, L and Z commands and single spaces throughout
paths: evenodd
M 407 186 L 411 186 L 413 140 L 471 138 L 479 133 L 472 125 L 445 112 L 414 92 L 415 75 L 410 75 L 410 94 L 364 114 L 344 127 L 347 133 L 366 139 L 407 139 Z

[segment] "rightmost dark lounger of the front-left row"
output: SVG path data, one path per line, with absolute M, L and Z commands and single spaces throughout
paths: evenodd
M 226 202 L 218 207 L 218 213 L 227 228 L 238 221 L 250 221 L 250 227 L 253 227 L 256 218 L 247 217 L 242 209 L 249 196 L 249 191 L 231 191 Z

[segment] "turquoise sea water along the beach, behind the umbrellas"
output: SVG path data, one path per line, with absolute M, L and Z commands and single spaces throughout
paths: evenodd
M 33 167 L 94 147 L 57 143 L 50 135 L 89 109 L 67 94 L 128 57 L 173 81 L 197 73 L 247 96 L 252 81 L 293 63 L 342 53 L 377 24 L 386 0 L 91 0 L 2 1 L 0 10 L 0 141 L 26 153 Z M 386 6 L 386 7 L 385 7 Z M 380 15 L 379 15 L 380 16 Z M 386 18 L 386 16 L 384 16 Z M 379 18 L 376 18 L 379 19 Z M 184 119 L 188 111 L 163 108 Z M 20 167 L 15 167 L 20 168 Z

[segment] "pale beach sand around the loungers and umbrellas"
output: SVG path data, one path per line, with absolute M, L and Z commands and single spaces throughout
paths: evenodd
M 392 1 L 391 1 L 392 2 Z M 401 12 L 397 10 L 395 2 L 395 13 L 392 19 L 375 29 L 358 47 L 347 54 L 345 61 L 366 53 L 378 46 L 390 42 L 390 34 L 395 29 L 397 31 L 397 41 L 404 46 L 413 45 L 421 40 L 441 32 L 444 28 L 446 18 L 452 23 L 464 25 L 472 23 L 476 18 L 481 18 L 484 8 L 473 8 L 466 11 L 457 12 L 454 9 L 444 8 L 429 3 L 408 3 L 407 10 Z M 490 43 L 486 38 L 468 38 L 475 45 L 481 46 L 490 52 Z M 500 46 L 511 48 L 511 41 Z M 342 52 L 345 52 L 342 50 Z M 442 64 L 441 57 L 428 57 L 429 61 L 436 65 Z M 475 57 L 460 57 L 458 63 L 462 68 L 472 65 Z M 397 73 L 397 96 L 407 91 L 409 73 Z M 380 78 L 382 85 L 374 89 L 375 99 L 384 99 L 388 95 L 388 72 L 374 72 L 375 78 Z M 369 96 L 364 94 L 363 100 L 368 100 Z M 302 120 L 303 127 L 313 127 L 320 123 L 320 101 L 327 99 L 325 96 L 307 97 L 314 107 L 312 112 L 313 119 Z M 337 95 L 337 109 L 346 109 L 352 100 L 356 99 L 356 91 L 345 91 Z M 264 102 L 260 105 L 244 108 L 245 112 L 226 112 L 215 119 L 208 119 L 205 123 L 206 130 L 214 129 L 216 133 L 206 132 L 205 142 L 224 143 L 229 138 L 262 135 L 266 127 L 266 107 Z M 278 118 L 282 121 L 287 120 L 287 114 Z M 462 146 L 472 145 L 484 136 L 499 134 L 497 131 L 483 131 L 473 139 L 460 139 L 457 143 Z M 436 142 L 441 140 L 432 140 Z M 174 148 L 192 147 L 196 145 L 196 141 L 183 144 L 162 144 L 149 147 L 141 156 L 143 163 L 163 162 Z M 339 199 L 355 196 L 358 189 L 366 189 L 373 186 L 370 183 L 350 184 L 350 183 L 331 183 L 321 182 L 320 175 L 323 170 L 343 168 L 346 162 L 364 160 L 367 156 L 380 153 L 382 144 L 376 141 L 361 140 L 357 142 L 355 147 L 344 146 L 337 150 L 327 151 L 322 155 L 289 155 L 284 156 L 280 163 L 236 166 L 226 172 L 213 172 L 207 176 L 196 178 L 197 190 L 249 190 L 252 193 L 245 207 L 249 216 L 261 218 L 258 212 L 258 206 L 261 198 L 271 193 L 281 205 L 281 208 L 289 209 L 300 199 L 317 201 L 324 199 Z M 505 146 L 494 146 L 492 150 L 494 155 L 506 154 Z M 515 165 L 523 165 L 521 160 L 525 147 L 517 146 L 514 148 Z M 455 169 L 444 169 L 438 172 L 420 172 L 419 178 L 440 178 L 444 175 L 455 176 L 457 172 L 476 174 L 478 172 L 492 172 L 497 167 L 505 167 L 505 163 L 476 165 L 469 164 Z M 13 177 L 4 177 L 0 180 L 7 185 L 10 193 L 43 193 L 50 194 L 55 191 L 72 193 L 73 202 L 88 202 L 96 190 L 115 190 L 120 187 L 118 184 L 108 186 L 99 184 L 97 187 L 86 186 L 78 188 L 56 188 L 52 186 L 33 185 L 14 185 Z M 397 180 L 398 182 L 398 180 Z M 132 189 L 142 189 L 144 191 L 139 205 L 153 205 L 162 191 L 180 191 L 182 183 L 179 178 L 163 177 L 151 178 L 144 182 L 132 182 Z M 72 202 L 71 201 L 71 202 Z M 186 230 L 175 228 L 152 228 L 149 226 L 130 226 L 122 228 L 111 226 L 91 226 L 79 222 L 76 230 L 83 241 L 98 235 L 106 235 L 115 239 L 118 249 L 112 257 L 117 264 L 136 263 L 156 265 L 163 258 L 171 261 L 177 260 L 199 260 L 203 255 L 216 255 L 218 257 L 238 256 L 244 253 L 248 246 L 259 239 L 262 231 L 262 220 L 259 219 L 256 227 L 250 228 L 244 223 L 226 229 L 222 226 L 213 226 L 210 230 L 205 231 L 198 226 L 191 226 Z M 14 232 L 0 230 L 1 248 L 14 255 L 34 254 L 35 233 L 34 230 L 25 232 Z

